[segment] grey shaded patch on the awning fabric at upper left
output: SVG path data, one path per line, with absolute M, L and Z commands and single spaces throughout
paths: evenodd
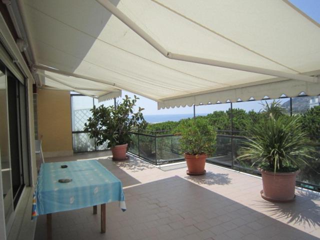
M 117 6 L 119 0 L 111 2 Z M 87 4 L 85 1 L 46 1 L 43 7 L 43 3 L 24 3 L 39 63 L 71 73 L 78 68 L 112 16 L 97 2 L 89 3 L 90 9 Z M 68 12 L 69 17 L 61 17 L 65 15 L 63 12 Z M 85 17 L 73 21 L 76 14 Z

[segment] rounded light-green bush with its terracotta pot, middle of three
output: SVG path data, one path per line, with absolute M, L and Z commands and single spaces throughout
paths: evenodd
M 174 131 L 180 135 L 180 149 L 184 153 L 188 175 L 205 173 L 205 159 L 215 149 L 216 132 L 204 118 L 182 120 Z

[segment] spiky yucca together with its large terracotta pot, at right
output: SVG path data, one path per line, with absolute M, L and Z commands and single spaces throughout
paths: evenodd
M 299 116 L 281 114 L 280 108 L 272 111 L 266 114 L 263 124 L 248 127 L 252 136 L 237 158 L 252 160 L 252 166 L 257 164 L 262 175 L 262 198 L 288 202 L 294 200 L 295 177 L 299 167 L 311 158 L 313 143 L 301 127 Z

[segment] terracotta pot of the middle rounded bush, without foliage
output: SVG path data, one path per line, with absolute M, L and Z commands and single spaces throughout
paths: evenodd
M 188 167 L 186 174 L 201 175 L 205 173 L 204 165 L 206 154 L 190 155 L 188 153 L 184 153 L 184 158 Z

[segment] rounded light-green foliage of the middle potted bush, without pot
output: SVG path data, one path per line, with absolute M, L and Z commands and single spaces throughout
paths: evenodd
M 175 129 L 182 153 L 191 155 L 212 155 L 215 147 L 216 132 L 205 118 L 183 120 Z

